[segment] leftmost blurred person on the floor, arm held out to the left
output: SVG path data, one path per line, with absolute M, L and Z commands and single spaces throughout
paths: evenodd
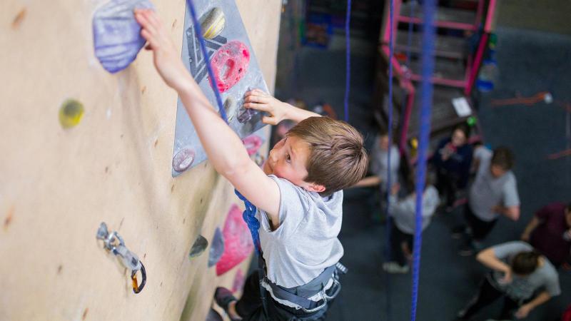
M 390 162 L 388 161 L 388 150 L 390 148 Z M 353 187 L 371 188 L 368 198 L 370 208 L 373 213 L 373 220 L 383 220 L 380 213 L 384 213 L 386 193 L 387 193 L 387 170 L 390 164 L 390 182 L 391 185 L 398 183 L 398 168 L 400 165 L 400 152 L 394 143 L 390 143 L 388 139 L 388 131 L 382 129 L 375 139 L 370 157 L 369 175 L 360 180 Z M 380 193 L 379 193 L 380 192 Z

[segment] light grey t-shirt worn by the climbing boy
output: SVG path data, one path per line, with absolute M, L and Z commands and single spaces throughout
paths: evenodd
M 343 246 L 343 191 L 322 198 L 288 180 L 269 175 L 280 189 L 280 225 L 271 230 L 266 212 L 259 210 L 260 243 L 268 279 L 282 287 L 297 287 L 338 263 Z

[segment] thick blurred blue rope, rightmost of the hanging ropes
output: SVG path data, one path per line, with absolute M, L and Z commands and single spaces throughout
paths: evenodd
M 426 154 L 428 151 L 428 138 L 430 135 L 430 108 L 433 101 L 433 85 L 430 78 L 434 71 L 434 42 L 435 42 L 435 1 L 423 1 L 424 29 L 423 29 L 423 81 L 421 85 L 422 105 L 420 107 L 420 138 L 418 142 L 418 165 L 416 168 L 416 210 L 415 210 L 415 242 L 413 250 L 413 298 L 410 308 L 410 320 L 416 320 L 418 302 L 418 279 L 420 276 L 420 249 L 423 242 L 423 192 L 426 177 Z

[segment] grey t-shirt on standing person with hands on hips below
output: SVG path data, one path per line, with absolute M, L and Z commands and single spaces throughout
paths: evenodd
M 470 187 L 470 209 L 480 220 L 490 222 L 499 216 L 492 211 L 495 205 L 508 208 L 520 205 L 517 183 L 511 170 L 499 178 L 492 176 L 490 172 L 492 152 L 489 149 L 477 148 L 474 151 L 474 158 L 480 161 L 480 165 L 478 165 L 474 183 Z

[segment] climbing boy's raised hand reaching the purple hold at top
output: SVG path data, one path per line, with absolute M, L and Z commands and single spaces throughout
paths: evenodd
M 135 9 L 134 14 L 141 25 L 141 36 L 147 41 L 145 49 L 153 51 L 156 70 L 168 86 L 181 91 L 192 77 L 186 71 L 181 55 L 176 51 L 161 19 L 151 9 Z

